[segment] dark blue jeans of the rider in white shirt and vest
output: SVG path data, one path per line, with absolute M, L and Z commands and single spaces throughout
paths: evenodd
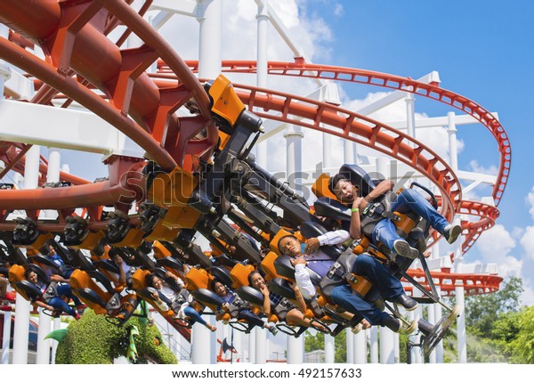
M 371 281 L 374 284 L 374 288 L 378 289 L 384 299 L 394 301 L 404 294 L 401 281 L 372 256 L 358 256 L 352 272 Z M 336 305 L 344 308 L 345 311 L 352 314 L 361 314 L 371 325 L 380 325 L 384 317 L 388 316 L 388 313 L 382 312 L 368 303 L 368 301 L 354 295 L 351 286 L 348 284 L 334 288 L 330 298 Z

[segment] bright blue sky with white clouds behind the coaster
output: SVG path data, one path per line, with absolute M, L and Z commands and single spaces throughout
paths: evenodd
M 490 111 L 497 111 L 512 145 L 512 168 L 499 205 L 497 226 L 485 233 L 465 255 L 467 262 L 498 263 L 503 275 L 523 278 L 528 305 L 534 304 L 534 175 L 530 170 L 534 142 L 534 96 L 528 86 L 534 69 L 534 4 L 527 1 L 362 1 L 270 0 L 315 63 L 372 69 L 418 78 L 436 70 L 441 87 L 464 95 Z M 223 59 L 255 59 L 255 2 L 225 2 L 223 8 Z M 183 59 L 198 58 L 198 22 L 174 16 L 160 32 Z M 292 61 L 292 53 L 270 28 L 269 59 Z M 235 82 L 242 77 L 232 79 Z M 248 78 L 254 84 L 254 78 Z M 287 81 L 270 77 L 269 85 Z M 375 86 L 344 84 L 344 104 L 363 100 Z M 293 87 L 303 95 L 312 85 Z M 292 92 L 294 93 L 294 92 Z M 417 112 L 429 117 L 445 115 L 438 102 L 417 98 Z M 458 164 L 491 171 L 498 166 L 497 144 L 483 126 L 458 126 L 463 142 Z M 272 140 L 277 150 L 283 138 Z M 334 150 L 333 150 L 334 151 Z M 278 152 L 272 157 L 278 158 Z M 77 154 L 79 155 L 79 154 Z M 65 152 L 72 173 L 94 179 L 105 175 L 91 161 Z M 89 163 L 94 165 L 89 166 Z M 315 162 L 314 162 L 315 163 Z M 307 166 L 306 163 L 303 167 Z M 531 193 L 531 202 L 528 195 Z M 481 192 L 483 194 L 483 192 Z M 488 194 L 488 191 L 486 191 Z M 530 212 L 532 208 L 532 212 Z

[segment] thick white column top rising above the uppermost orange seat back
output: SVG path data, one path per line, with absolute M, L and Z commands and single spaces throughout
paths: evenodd
M 223 2 L 198 0 L 199 28 L 198 77 L 214 79 L 221 73 Z

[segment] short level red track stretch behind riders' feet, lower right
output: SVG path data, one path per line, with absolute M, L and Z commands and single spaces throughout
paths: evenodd
M 421 285 L 429 289 L 428 280 L 425 278 L 425 272 L 421 269 L 409 270 L 408 274 L 416 279 Z M 462 287 L 468 296 L 482 295 L 498 291 L 498 286 L 503 280 L 497 274 L 467 274 L 467 273 L 449 273 L 449 272 L 432 272 L 433 283 L 441 289 L 441 296 L 455 296 L 455 289 Z M 404 289 L 408 294 L 413 291 L 413 286 L 407 284 Z

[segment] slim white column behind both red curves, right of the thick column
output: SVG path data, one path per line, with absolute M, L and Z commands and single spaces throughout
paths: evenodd
M 269 0 L 258 2 L 257 20 L 257 57 L 256 57 L 256 85 L 267 87 L 267 28 L 269 26 Z M 267 141 L 256 144 L 256 163 L 263 168 L 267 167 Z

